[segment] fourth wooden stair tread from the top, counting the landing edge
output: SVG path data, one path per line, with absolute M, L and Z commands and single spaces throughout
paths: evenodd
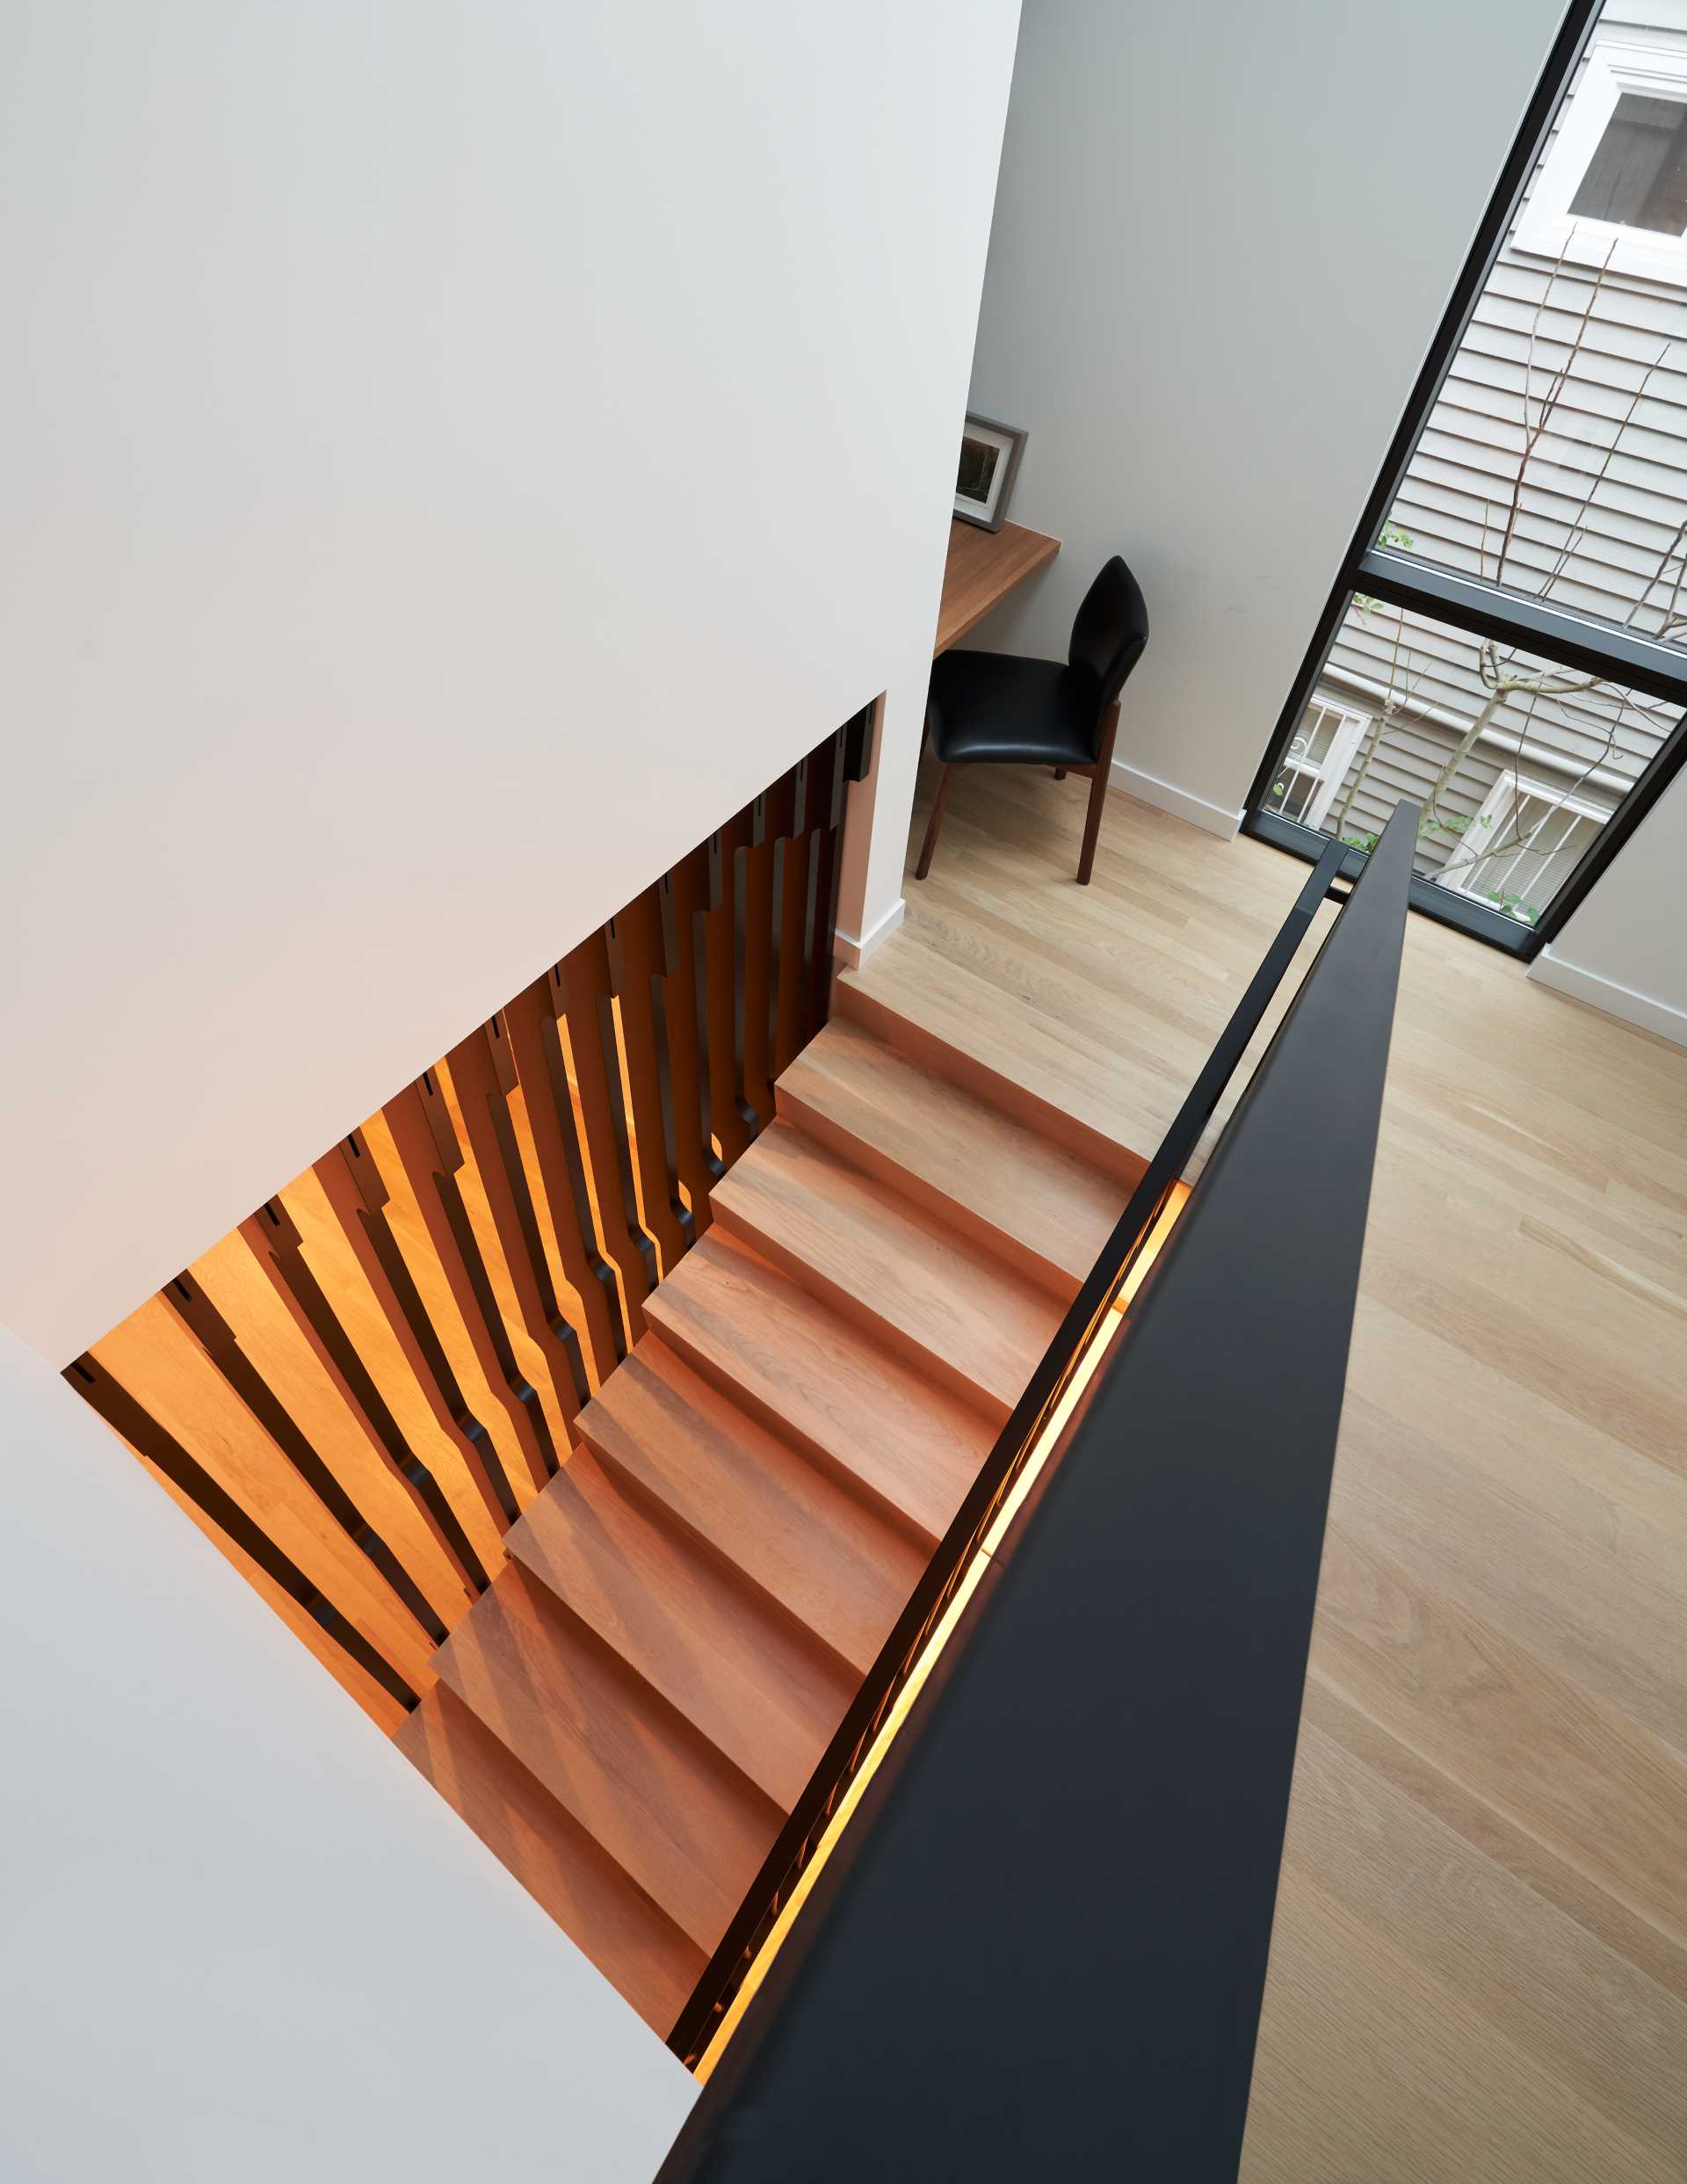
M 646 1317 L 705 1378 L 895 1511 L 928 1551 L 995 1439 L 978 1409 L 718 1230 L 650 1293 Z

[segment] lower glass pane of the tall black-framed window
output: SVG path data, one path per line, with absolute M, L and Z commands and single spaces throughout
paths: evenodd
M 1320 832 L 1371 850 L 1395 804 L 1412 797 L 1423 806 L 1421 878 L 1530 926 L 1678 719 L 1676 705 L 1626 684 L 1375 598 L 1349 601 L 1307 710 L 1320 708 L 1371 716 Z M 1264 808 L 1292 819 L 1307 804 Z

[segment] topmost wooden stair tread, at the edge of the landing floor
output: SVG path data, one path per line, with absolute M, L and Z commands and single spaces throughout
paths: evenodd
M 908 935 L 840 972 L 836 1007 L 1126 1186 L 1181 1096 L 1174 1072 L 1111 1053 L 1019 998 L 1008 1005 L 986 978 Z

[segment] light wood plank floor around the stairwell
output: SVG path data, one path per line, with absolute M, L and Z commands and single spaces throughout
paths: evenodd
M 1305 867 L 1113 795 L 1078 889 L 1085 786 L 962 771 L 869 970 L 1148 1151 Z M 1242 2173 L 1687 2177 L 1687 1053 L 1423 917 Z

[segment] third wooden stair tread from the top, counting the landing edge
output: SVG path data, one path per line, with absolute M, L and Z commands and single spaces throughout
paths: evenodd
M 997 1422 L 1061 1324 L 1030 1275 L 775 1120 L 714 1192 L 716 1223 Z

